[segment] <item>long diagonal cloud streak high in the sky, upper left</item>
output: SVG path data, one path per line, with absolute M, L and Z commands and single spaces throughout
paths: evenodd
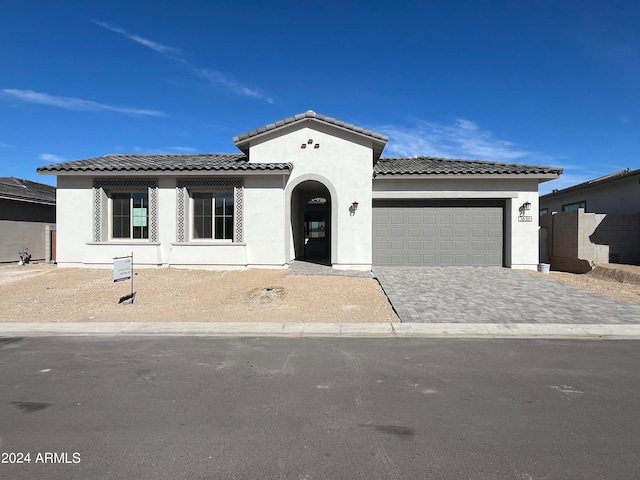
M 189 69 L 192 75 L 195 75 L 200 78 L 204 78 L 208 82 L 218 85 L 225 90 L 242 97 L 255 98 L 257 100 L 264 100 L 268 103 L 274 103 L 273 97 L 265 95 L 257 88 L 252 88 L 243 83 L 233 79 L 230 75 L 221 73 L 217 70 L 208 69 L 208 68 L 197 68 L 191 65 L 186 59 L 181 55 L 181 51 L 175 47 L 169 47 L 166 45 L 162 45 L 153 40 L 149 40 L 148 38 L 141 37 L 139 35 L 134 35 L 132 33 L 127 32 L 124 28 L 116 27 L 106 22 L 99 22 L 97 20 L 93 20 L 93 22 L 97 25 L 100 25 L 107 30 L 118 33 L 134 42 L 140 43 L 145 47 L 148 47 L 156 52 L 160 52 L 165 55 L 167 58 L 178 62 Z

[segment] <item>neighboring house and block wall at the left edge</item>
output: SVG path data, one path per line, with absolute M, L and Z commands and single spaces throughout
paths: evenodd
M 50 260 L 55 223 L 55 187 L 0 177 L 0 263 L 17 263 L 25 248 L 34 261 Z

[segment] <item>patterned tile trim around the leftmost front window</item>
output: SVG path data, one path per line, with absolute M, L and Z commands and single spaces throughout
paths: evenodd
M 99 179 L 93 181 L 93 241 L 108 237 L 107 192 L 109 188 L 147 188 L 149 190 L 149 242 L 158 241 L 158 181 L 155 179 Z

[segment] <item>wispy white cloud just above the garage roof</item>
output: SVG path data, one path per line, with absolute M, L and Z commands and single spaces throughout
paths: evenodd
M 533 155 L 463 118 L 451 125 L 417 120 L 411 127 L 384 125 L 376 130 L 389 135 L 386 156 L 429 155 L 512 162 Z

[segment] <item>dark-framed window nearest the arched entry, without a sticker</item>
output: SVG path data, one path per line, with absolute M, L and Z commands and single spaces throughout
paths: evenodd
M 233 240 L 233 190 L 194 192 L 191 198 L 193 201 L 193 238 Z

